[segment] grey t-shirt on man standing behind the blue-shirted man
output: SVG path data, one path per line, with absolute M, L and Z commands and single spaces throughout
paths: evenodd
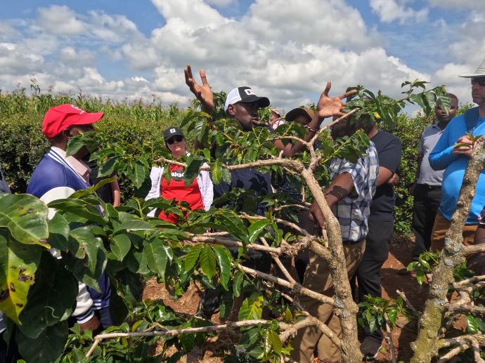
M 425 131 L 422 133 L 419 152 L 423 155 L 423 157 L 421 161 L 418 184 L 441 185 L 444 170 L 433 170 L 431 165 L 429 165 L 428 157 L 429 154 L 431 154 L 431 152 L 433 151 L 434 146 L 437 145 L 443 131 L 444 129 L 441 130 L 438 124 L 434 124 L 426 128 Z

